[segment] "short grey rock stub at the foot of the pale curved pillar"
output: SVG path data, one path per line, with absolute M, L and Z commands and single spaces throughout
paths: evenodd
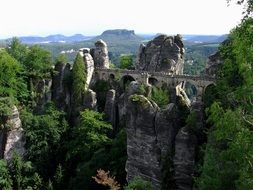
M 92 91 L 91 89 L 88 89 L 84 98 L 83 98 L 83 109 L 97 109 L 97 98 L 96 98 L 96 92 Z

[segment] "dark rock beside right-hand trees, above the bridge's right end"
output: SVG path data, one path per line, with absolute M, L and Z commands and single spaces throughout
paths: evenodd
M 215 77 L 222 64 L 223 60 L 219 52 L 216 52 L 215 54 L 209 56 L 205 70 L 206 74 Z

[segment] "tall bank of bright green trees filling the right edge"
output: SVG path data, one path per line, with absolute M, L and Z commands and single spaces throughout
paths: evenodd
M 220 48 L 224 66 L 218 97 L 209 107 L 211 128 L 198 189 L 253 187 L 253 19 L 245 19 Z

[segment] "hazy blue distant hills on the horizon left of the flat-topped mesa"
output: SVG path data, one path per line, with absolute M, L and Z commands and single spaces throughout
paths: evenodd
M 49 35 L 46 37 L 41 36 L 21 36 L 18 37 L 23 43 L 33 44 L 33 43 L 49 43 L 49 42 L 80 42 L 89 40 L 92 37 L 84 36 L 82 34 L 75 34 L 73 36 L 64 36 L 61 34 Z

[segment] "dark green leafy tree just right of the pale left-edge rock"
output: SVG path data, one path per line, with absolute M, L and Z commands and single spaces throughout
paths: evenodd
M 25 130 L 27 159 L 32 161 L 44 179 L 52 177 L 61 152 L 61 138 L 68 124 L 65 114 L 48 103 L 45 113 L 34 115 L 29 111 L 21 113 Z

